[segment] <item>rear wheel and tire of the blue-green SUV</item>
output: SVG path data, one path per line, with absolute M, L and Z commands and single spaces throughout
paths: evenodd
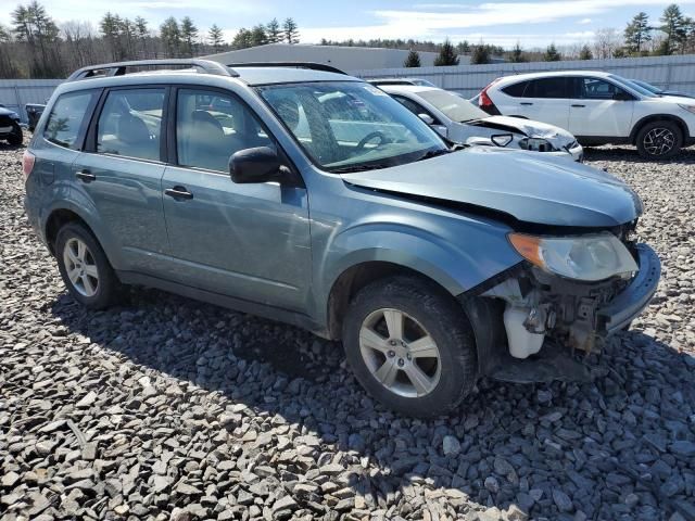
M 85 226 L 71 223 L 60 229 L 55 257 L 63 282 L 77 302 L 90 309 L 103 309 L 116 301 L 121 283 L 106 254 Z

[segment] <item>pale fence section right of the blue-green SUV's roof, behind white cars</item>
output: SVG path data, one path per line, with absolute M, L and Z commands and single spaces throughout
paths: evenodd
M 695 93 L 695 54 L 680 56 L 576 60 L 567 62 L 496 63 L 453 67 L 384 68 L 351 71 L 362 78 L 415 77 L 427 79 L 467 98 L 476 96 L 493 79 L 543 71 L 605 71 L 626 78 L 642 79 L 664 89 Z

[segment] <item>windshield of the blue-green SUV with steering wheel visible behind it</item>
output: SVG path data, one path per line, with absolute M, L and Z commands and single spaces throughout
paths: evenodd
M 314 163 L 330 171 L 384 168 L 448 151 L 420 118 L 369 84 L 291 84 L 258 90 Z

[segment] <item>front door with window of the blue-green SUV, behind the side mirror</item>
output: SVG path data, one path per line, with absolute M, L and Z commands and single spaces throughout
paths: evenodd
M 181 88 L 176 96 L 176 165 L 163 178 L 174 278 L 303 309 L 311 275 L 305 188 L 232 182 L 230 155 L 276 143 L 230 92 Z

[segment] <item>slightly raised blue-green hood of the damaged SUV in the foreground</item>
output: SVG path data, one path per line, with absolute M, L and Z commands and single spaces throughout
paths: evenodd
M 488 208 L 527 224 L 607 228 L 642 213 L 640 198 L 603 170 L 498 148 L 471 147 L 342 178 L 357 187 Z

